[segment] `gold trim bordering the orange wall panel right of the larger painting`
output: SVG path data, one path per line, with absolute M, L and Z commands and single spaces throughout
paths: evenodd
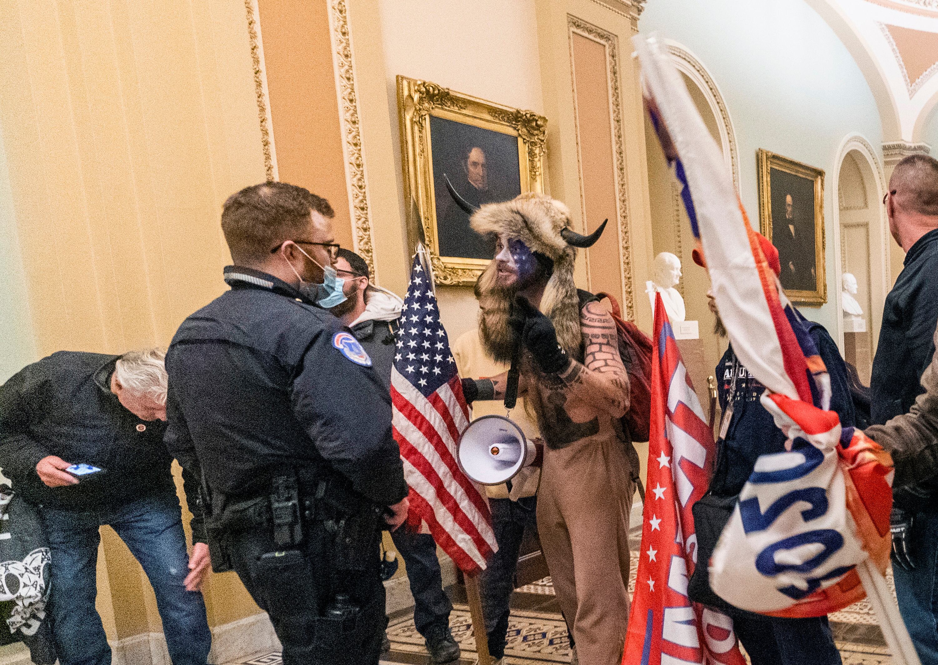
M 616 229 L 619 233 L 619 260 L 621 261 L 622 293 L 625 300 L 626 318 L 635 318 L 635 300 L 632 286 L 632 250 L 629 241 L 628 224 L 628 176 L 626 174 L 625 140 L 623 139 L 622 122 L 622 92 L 619 86 L 619 40 L 611 32 L 588 23 L 579 17 L 567 14 L 567 28 L 570 34 L 570 63 L 573 63 L 574 33 L 598 41 L 606 48 L 606 77 L 609 84 L 610 114 L 613 118 L 613 155 L 615 155 L 615 194 L 617 219 Z M 574 90 L 574 116 L 576 109 L 576 91 Z M 577 159 L 580 158 L 580 127 L 579 121 L 574 117 L 577 126 Z M 581 166 L 582 181 L 582 166 Z

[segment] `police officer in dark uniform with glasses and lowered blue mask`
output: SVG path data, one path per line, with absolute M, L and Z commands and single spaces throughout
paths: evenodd
M 332 216 L 284 183 L 225 201 L 231 290 L 183 322 L 166 358 L 167 444 L 203 478 L 212 566 L 270 615 L 285 665 L 377 664 L 380 529 L 407 515 L 390 399 L 323 309 L 341 297 Z

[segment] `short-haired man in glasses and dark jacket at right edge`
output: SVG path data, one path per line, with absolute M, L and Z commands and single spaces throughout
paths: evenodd
M 925 392 L 938 323 L 938 161 L 910 155 L 896 165 L 885 196 L 904 267 L 885 299 L 870 381 L 870 416 L 885 424 Z M 933 481 L 897 489 L 892 513 L 893 574 L 899 609 L 923 663 L 938 663 L 938 501 Z

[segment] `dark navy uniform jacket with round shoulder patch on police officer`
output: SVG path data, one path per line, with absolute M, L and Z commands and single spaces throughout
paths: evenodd
M 407 495 L 390 395 L 338 318 L 266 273 L 187 318 L 166 356 L 166 442 L 213 493 L 264 493 L 289 468 L 382 505 Z

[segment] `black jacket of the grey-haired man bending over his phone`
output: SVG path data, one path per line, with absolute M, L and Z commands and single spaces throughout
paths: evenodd
M 0 466 L 30 503 L 84 510 L 175 494 L 173 457 L 162 440 L 166 423 L 141 421 L 117 401 L 110 389 L 117 358 L 59 351 L 0 387 Z M 105 473 L 48 487 L 36 473 L 48 455 L 100 466 Z M 190 480 L 187 495 L 194 498 Z M 195 507 L 193 501 L 189 505 Z

